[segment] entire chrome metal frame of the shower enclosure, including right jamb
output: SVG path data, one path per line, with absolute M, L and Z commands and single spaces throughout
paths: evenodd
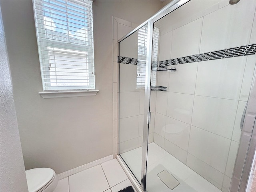
M 161 10 L 156 12 L 152 17 L 143 22 L 140 26 L 132 30 L 130 33 L 126 34 L 120 40 L 120 42 L 126 39 L 130 35 L 134 34 L 144 25 L 148 24 L 148 47 L 147 47 L 147 57 L 146 57 L 146 81 L 145 81 L 145 100 L 144 100 L 144 124 L 143 124 L 143 142 L 142 142 L 142 170 L 141 170 L 141 182 L 137 182 L 141 189 L 146 191 L 146 168 L 147 168 L 147 155 L 148 155 L 148 127 L 149 127 L 149 116 L 150 113 L 150 87 L 151 87 L 151 71 L 152 71 L 152 42 L 153 42 L 153 27 L 154 22 L 163 18 L 170 12 L 176 10 L 180 6 L 186 4 L 190 0 L 173 0 Z M 119 55 L 119 50 L 118 50 Z M 253 95 L 254 94 L 254 95 Z M 252 82 L 252 88 L 250 96 L 248 99 L 248 107 L 245 112 L 245 119 L 242 129 L 242 134 L 240 138 L 238 154 L 236 156 L 236 163 L 234 166 L 234 172 L 232 175 L 232 181 L 230 184 L 230 192 L 245 192 L 250 175 L 250 170 L 253 162 L 254 151 L 256 148 L 256 69 L 254 71 L 254 80 Z M 119 99 L 119 98 L 118 98 Z M 252 109 L 250 112 L 248 109 Z M 253 110 L 255 109 L 255 110 Z M 250 120 L 248 119 L 250 118 Z M 254 121 L 253 121 L 254 118 Z M 246 123 L 250 122 L 250 123 Z M 253 122 L 253 124 L 252 124 Z M 119 127 L 119 126 L 118 126 Z M 118 132 L 119 134 L 119 132 Z M 249 134 L 249 135 L 248 135 Z M 119 138 L 119 136 L 118 136 Z M 244 152 L 246 149 L 246 152 Z M 119 154 L 119 144 L 118 144 L 118 154 Z M 122 158 L 121 158 L 122 159 Z M 124 160 L 123 160 L 124 161 Z M 125 162 L 124 162 L 125 163 Z M 125 163 L 126 164 L 126 163 Z M 134 177 L 135 178 L 135 177 Z M 137 180 L 136 180 L 137 181 Z

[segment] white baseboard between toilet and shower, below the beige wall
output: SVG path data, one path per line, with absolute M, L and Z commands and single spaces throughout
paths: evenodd
M 59 180 L 64 179 L 64 178 L 66 178 L 68 176 L 74 175 L 74 174 L 76 174 L 78 172 L 81 172 L 81 171 L 86 170 L 88 168 L 92 168 L 92 167 L 94 167 L 96 165 L 102 164 L 102 163 L 104 163 L 106 161 L 109 161 L 109 160 L 112 160 L 112 159 L 113 159 L 113 155 L 110 155 L 110 156 L 106 156 L 104 158 L 98 159 L 96 161 L 93 161 L 93 162 L 81 165 L 81 166 L 76 167 L 74 169 L 70 169 L 68 171 L 65 171 L 63 173 L 58 174 L 58 179 Z

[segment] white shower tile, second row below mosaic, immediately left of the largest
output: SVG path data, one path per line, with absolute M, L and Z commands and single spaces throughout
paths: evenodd
M 167 116 L 190 124 L 193 100 L 194 95 L 168 92 Z

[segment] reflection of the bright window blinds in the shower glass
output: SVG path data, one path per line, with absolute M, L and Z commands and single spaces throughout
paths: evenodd
M 153 30 L 151 86 L 156 86 L 159 28 L 154 26 Z M 138 30 L 137 88 L 145 88 L 147 43 L 148 26 L 144 26 Z

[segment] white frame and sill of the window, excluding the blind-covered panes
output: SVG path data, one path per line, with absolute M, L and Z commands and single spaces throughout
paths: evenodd
M 70 42 L 70 34 L 68 32 L 68 20 L 67 20 L 67 32 L 68 35 L 65 38 L 68 38 L 68 42 L 56 42 L 56 40 L 54 40 L 54 38 L 52 38 L 52 40 L 50 38 L 47 38 L 47 29 L 46 28 L 46 19 L 45 19 L 45 14 L 44 14 L 44 10 L 40 10 L 40 4 L 42 4 L 43 6 L 43 1 L 40 0 L 34 0 L 36 1 L 36 3 L 33 2 L 33 10 L 34 10 L 34 19 L 35 19 L 35 26 L 36 26 L 36 35 L 38 33 L 43 34 L 43 36 L 45 36 L 46 40 L 45 41 L 40 41 L 40 38 L 44 38 L 43 36 L 39 36 L 37 35 L 37 43 L 38 43 L 38 53 L 39 53 L 39 59 L 40 59 L 40 72 L 41 72 L 41 78 L 42 78 L 42 86 L 43 86 L 43 92 L 39 92 L 38 94 L 40 94 L 43 98 L 62 98 L 62 97 L 76 97 L 76 96 L 94 96 L 97 94 L 97 92 L 99 92 L 99 90 L 96 90 L 95 88 L 95 65 L 94 65 L 94 40 L 93 40 L 93 23 L 91 24 L 92 30 L 89 32 L 89 34 L 91 33 L 91 45 L 88 45 L 88 43 L 85 43 L 84 45 L 78 45 L 78 44 L 72 44 L 72 42 Z M 91 1 L 91 0 L 88 0 Z M 92 2 L 91 2 L 92 3 Z M 39 6 L 37 5 L 39 4 Z M 89 7 L 88 7 L 89 8 Z M 90 7 L 90 12 L 92 14 L 92 6 Z M 39 17 L 39 18 L 38 18 Z M 40 18 L 41 17 L 41 18 Z M 48 16 L 47 16 L 48 17 Z M 51 18 L 52 19 L 52 18 Z M 72 18 L 71 18 L 72 19 Z M 92 16 L 90 18 L 92 20 Z M 93 22 L 93 21 L 92 21 Z M 49 30 L 50 32 L 53 32 L 53 30 Z M 51 33 L 50 35 L 54 35 L 53 33 Z M 85 37 L 86 38 L 86 33 L 85 33 Z M 90 44 L 90 42 L 89 42 Z M 52 45 L 52 46 L 51 46 Z M 40 48 L 39 48 L 40 47 Z M 71 49 L 72 47 L 72 49 Z M 86 52 L 85 50 L 87 50 L 87 47 L 90 48 L 91 52 Z M 89 82 L 89 86 L 94 87 L 94 88 L 85 88 L 84 86 L 81 86 L 80 88 L 76 86 L 76 88 L 74 89 L 70 89 L 68 87 L 70 86 L 66 86 L 66 88 L 64 89 L 58 89 L 58 86 L 52 86 L 49 85 L 50 83 L 50 78 L 47 79 L 46 76 L 50 76 L 50 71 L 47 70 L 43 70 L 46 68 L 50 68 L 49 66 L 46 66 L 47 63 L 50 64 L 50 51 L 48 50 L 48 48 L 59 48 L 59 49 L 66 49 L 66 50 L 74 50 L 75 51 L 82 51 L 82 52 L 86 52 L 86 57 L 87 60 L 90 58 L 93 58 L 92 62 L 87 62 L 88 65 L 85 65 L 88 67 L 88 74 L 93 74 L 93 79 L 90 80 L 90 75 L 85 76 L 85 78 L 88 78 L 88 81 L 93 81 L 92 84 Z M 70 51 L 71 53 L 71 51 Z M 43 62 L 43 60 L 48 60 L 48 62 Z M 61 75 L 56 75 L 57 76 L 61 76 Z M 71 79 L 72 80 L 72 79 Z M 52 88 L 51 88 L 52 87 Z

